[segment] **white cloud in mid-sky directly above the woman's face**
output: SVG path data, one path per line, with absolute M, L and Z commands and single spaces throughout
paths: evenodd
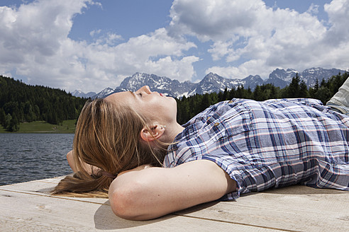
M 177 42 L 167 35 L 164 28 L 160 28 L 114 47 L 99 43 L 88 45 L 83 57 L 88 60 L 87 72 L 89 69 L 94 72 L 103 70 L 107 81 L 111 81 L 115 74 L 124 78 L 135 71 L 185 81 L 194 75 L 192 64 L 199 59 L 184 56 L 182 51 L 192 47 L 195 47 L 192 42 Z M 121 81 L 119 79 L 118 83 Z

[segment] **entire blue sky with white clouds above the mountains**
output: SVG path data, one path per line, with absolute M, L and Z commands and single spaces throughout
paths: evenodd
M 348 25 L 349 0 L 0 0 L 0 74 L 98 93 L 136 72 L 349 70 Z

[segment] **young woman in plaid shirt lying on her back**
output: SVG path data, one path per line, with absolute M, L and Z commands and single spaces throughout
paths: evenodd
M 349 190 L 349 117 L 334 109 L 233 99 L 181 126 L 173 98 L 148 86 L 114 93 L 84 106 L 67 154 L 74 177 L 54 193 L 109 192 L 116 215 L 144 220 L 297 183 Z

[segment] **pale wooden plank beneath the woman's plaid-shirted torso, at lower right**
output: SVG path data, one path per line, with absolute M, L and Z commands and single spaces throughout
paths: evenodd
M 349 231 L 349 192 L 292 186 L 177 214 L 289 231 Z

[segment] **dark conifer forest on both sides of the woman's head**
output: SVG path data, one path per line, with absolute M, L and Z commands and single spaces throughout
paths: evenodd
M 349 72 L 332 76 L 328 80 L 316 81 L 314 87 L 307 88 L 298 74 L 289 86 L 275 87 L 271 83 L 250 88 L 226 88 L 219 93 L 191 95 L 176 98 L 177 121 L 184 124 L 209 105 L 232 98 L 267 100 L 271 98 L 316 98 L 323 104 L 338 91 L 348 79 Z M 50 124 L 60 124 L 63 120 L 76 120 L 86 102 L 86 98 L 74 97 L 57 88 L 30 86 L 0 75 L 0 124 L 9 132 L 16 132 L 21 122 L 43 120 Z

